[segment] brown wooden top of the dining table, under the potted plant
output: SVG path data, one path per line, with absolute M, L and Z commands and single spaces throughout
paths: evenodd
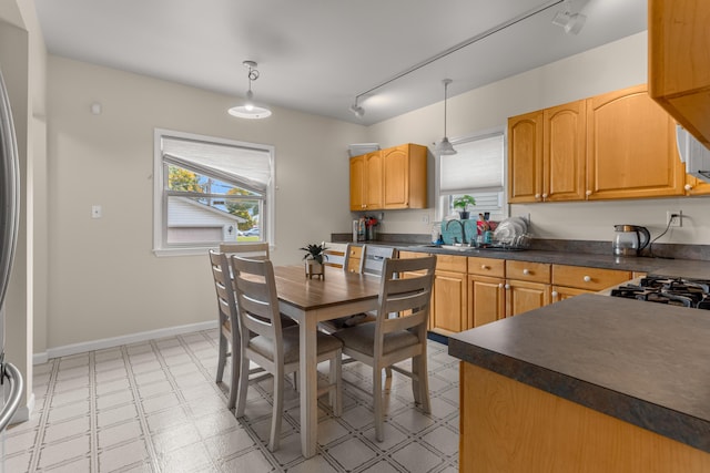
M 325 267 L 325 279 L 308 279 L 304 267 L 274 267 L 278 299 L 302 310 L 314 310 L 358 300 L 376 299 L 381 279 L 372 275 Z

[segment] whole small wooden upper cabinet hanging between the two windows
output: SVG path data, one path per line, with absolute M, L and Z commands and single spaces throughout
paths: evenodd
M 426 208 L 426 146 L 404 144 L 351 158 L 351 210 Z

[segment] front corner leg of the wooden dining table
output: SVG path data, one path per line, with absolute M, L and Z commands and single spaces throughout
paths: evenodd
M 306 459 L 315 455 L 318 429 L 316 330 L 315 318 L 302 318 L 300 321 L 301 450 Z

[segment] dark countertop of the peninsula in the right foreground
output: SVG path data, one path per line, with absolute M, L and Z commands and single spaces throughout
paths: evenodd
M 452 336 L 448 350 L 710 453 L 706 310 L 581 295 Z

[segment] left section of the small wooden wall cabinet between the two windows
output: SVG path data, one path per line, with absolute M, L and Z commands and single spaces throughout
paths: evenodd
M 351 158 L 351 210 L 383 207 L 383 156 L 381 151 Z

